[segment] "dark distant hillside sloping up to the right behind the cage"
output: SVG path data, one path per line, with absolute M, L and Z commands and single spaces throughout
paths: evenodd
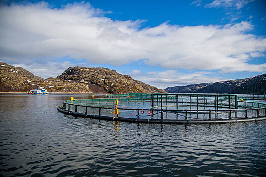
M 266 74 L 246 79 L 227 80 L 216 83 L 200 83 L 187 86 L 168 87 L 169 93 L 229 93 L 250 94 L 266 92 Z

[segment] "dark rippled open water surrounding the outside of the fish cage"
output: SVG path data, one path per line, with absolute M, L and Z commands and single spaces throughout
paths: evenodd
M 86 94 L 0 94 L 0 176 L 263 176 L 266 121 L 153 125 L 64 115 Z

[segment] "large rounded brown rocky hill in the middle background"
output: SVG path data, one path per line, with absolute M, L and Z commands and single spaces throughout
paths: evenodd
M 56 78 L 94 84 L 108 93 L 165 92 L 162 89 L 134 80 L 129 75 L 122 75 L 107 68 L 70 67 Z

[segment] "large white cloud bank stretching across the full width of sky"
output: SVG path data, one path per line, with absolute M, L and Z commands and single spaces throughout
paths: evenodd
M 1 6 L 0 59 L 27 66 L 64 57 L 111 65 L 145 59 L 167 69 L 266 71 L 265 64 L 247 63 L 266 51 L 266 39 L 248 33 L 249 22 L 183 27 L 166 22 L 140 29 L 141 20 L 112 20 L 103 13 L 88 3 L 60 9 L 46 3 Z

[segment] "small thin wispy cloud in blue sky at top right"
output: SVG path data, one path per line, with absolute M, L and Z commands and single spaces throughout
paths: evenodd
M 219 8 L 219 7 L 234 7 L 236 9 L 241 9 L 245 5 L 255 0 L 214 0 L 211 3 L 206 4 L 206 8 Z

